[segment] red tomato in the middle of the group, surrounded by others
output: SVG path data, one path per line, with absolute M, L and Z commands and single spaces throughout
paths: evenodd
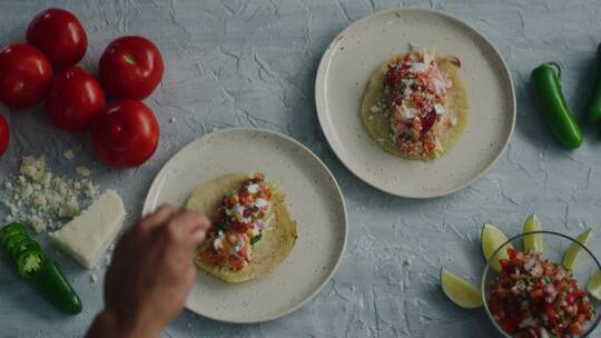
M 100 83 L 80 67 L 57 73 L 46 99 L 48 117 L 65 130 L 87 129 L 104 107 L 105 92 Z

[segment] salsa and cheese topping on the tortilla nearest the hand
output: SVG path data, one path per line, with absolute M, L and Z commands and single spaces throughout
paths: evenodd
M 246 267 L 253 246 L 268 225 L 270 199 L 272 189 L 262 173 L 255 173 L 238 191 L 224 197 L 207 237 L 206 242 L 211 245 L 200 250 L 201 257 L 231 269 Z

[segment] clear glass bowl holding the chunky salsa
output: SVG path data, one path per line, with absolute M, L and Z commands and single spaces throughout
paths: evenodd
M 484 300 L 484 308 L 486 309 L 486 315 L 491 319 L 494 327 L 503 335 L 503 337 L 513 338 L 514 336 L 508 334 L 501 325 L 493 318 L 491 314 L 491 309 L 489 308 L 489 295 L 490 295 L 490 286 L 491 281 L 496 279 L 499 276 L 499 272 L 492 268 L 492 262 L 494 260 L 497 260 L 501 256 L 502 250 L 505 250 L 506 252 L 506 246 L 511 243 L 513 248 L 523 251 L 524 245 L 523 239 L 524 237 L 529 235 L 536 235 L 540 233 L 544 238 L 544 247 L 543 247 L 543 257 L 549 259 L 551 262 L 560 264 L 563 261 L 563 255 L 568 250 L 568 248 L 575 243 L 577 246 L 581 247 L 583 250 L 580 254 L 578 264 L 575 266 L 575 269 L 573 272 L 573 278 L 577 280 L 578 286 L 582 290 L 587 290 L 587 285 L 589 284 L 589 280 L 599 271 L 601 271 L 601 265 L 599 264 L 599 260 L 594 257 L 594 255 L 585 246 L 581 245 L 575 239 L 553 231 L 533 231 L 533 232 L 525 232 L 519 236 L 515 236 L 511 239 L 509 239 L 506 242 L 504 242 L 494 255 L 491 257 L 491 259 L 486 262 L 486 267 L 484 268 L 484 274 L 482 276 L 482 299 Z M 582 334 L 571 337 L 588 337 L 594 328 L 599 325 L 599 321 L 601 320 L 601 301 L 594 299 L 592 296 L 589 296 L 590 305 L 594 309 L 594 314 L 591 320 L 587 321 L 582 327 Z M 550 336 L 551 337 L 551 336 Z

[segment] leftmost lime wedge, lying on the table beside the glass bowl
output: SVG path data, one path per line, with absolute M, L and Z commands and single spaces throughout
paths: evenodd
M 441 269 L 441 286 L 444 295 L 464 309 L 475 309 L 482 306 L 482 295 L 473 285 L 446 270 Z

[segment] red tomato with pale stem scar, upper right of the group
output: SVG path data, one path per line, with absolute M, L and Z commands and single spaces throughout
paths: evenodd
M 141 100 L 152 93 L 162 78 L 162 57 L 150 40 L 122 37 L 110 42 L 98 69 L 108 93 Z

